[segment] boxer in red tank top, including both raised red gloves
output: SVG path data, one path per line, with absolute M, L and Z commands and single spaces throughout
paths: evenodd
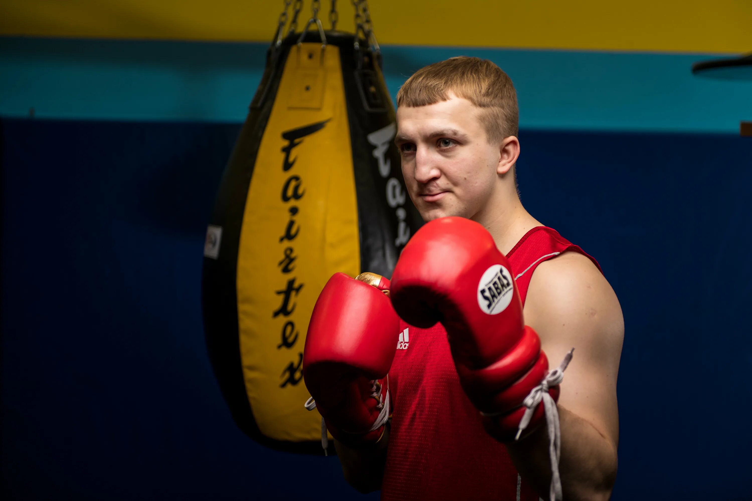
M 521 204 L 517 117 L 507 74 L 477 58 L 429 65 L 399 90 L 395 142 L 427 224 L 391 284 L 327 285 L 320 301 L 337 307 L 317 303 L 325 320 L 312 318 L 303 362 L 360 492 L 611 495 L 623 316 L 596 260 Z

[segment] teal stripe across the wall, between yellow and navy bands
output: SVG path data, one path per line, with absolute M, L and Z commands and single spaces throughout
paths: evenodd
M 241 122 L 265 44 L 0 38 L 0 116 Z M 522 128 L 738 133 L 752 83 L 693 77 L 708 56 L 384 47 L 393 95 L 450 56 L 491 59 L 514 80 Z

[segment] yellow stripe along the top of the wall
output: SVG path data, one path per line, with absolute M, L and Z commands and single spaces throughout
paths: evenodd
M 353 7 L 337 2 L 341 29 Z M 603 0 L 371 0 L 384 44 L 566 50 L 744 53 L 752 50 L 752 2 Z M 3 2 L 0 35 L 267 41 L 281 0 L 26 0 Z M 328 21 L 329 1 L 320 17 Z M 305 0 L 299 27 L 310 16 Z

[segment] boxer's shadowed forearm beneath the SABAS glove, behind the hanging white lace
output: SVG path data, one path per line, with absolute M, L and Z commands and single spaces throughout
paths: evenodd
M 617 472 L 617 450 L 592 424 L 559 406 L 561 475 L 564 499 L 608 499 Z M 547 499 L 551 481 L 545 426 L 507 446 L 517 471 Z

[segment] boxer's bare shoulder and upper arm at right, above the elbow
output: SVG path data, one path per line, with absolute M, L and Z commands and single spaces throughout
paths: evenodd
M 608 280 L 586 256 L 565 252 L 535 269 L 524 313 L 525 323 L 541 337 L 551 367 L 575 349 L 559 406 L 617 444 L 616 388 L 624 320 Z

